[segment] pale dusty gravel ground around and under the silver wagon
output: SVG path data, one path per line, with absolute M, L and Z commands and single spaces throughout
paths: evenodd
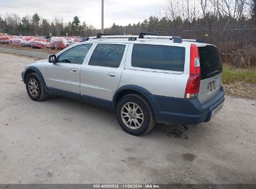
M 226 96 L 211 122 L 135 137 L 111 111 L 29 99 L 32 62 L 0 54 L 0 183 L 256 183 L 256 101 Z

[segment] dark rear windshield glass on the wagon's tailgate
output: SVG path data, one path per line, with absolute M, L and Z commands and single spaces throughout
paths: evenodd
M 201 80 L 211 78 L 222 73 L 222 62 L 220 60 L 219 50 L 212 46 L 198 47 L 200 66 L 201 66 Z

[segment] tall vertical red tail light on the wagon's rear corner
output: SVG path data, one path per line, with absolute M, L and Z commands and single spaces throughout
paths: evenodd
M 185 91 L 185 98 L 192 99 L 197 98 L 200 90 L 201 82 L 201 69 L 199 52 L 196 44 L 191 44 L 190 47 L 190 71 L 189 78 L 187 80 L 187 86 Z

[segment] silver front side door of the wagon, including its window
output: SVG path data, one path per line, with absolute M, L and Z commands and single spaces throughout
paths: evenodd
M 46 67 L 46 85 L 52 93 L 73 98 L 80 97 L 80 71 L 93 44 L 69 48 L 57 56 L 57 63 Z

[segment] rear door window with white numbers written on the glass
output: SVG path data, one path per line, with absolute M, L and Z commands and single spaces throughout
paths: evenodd
M 92 53 L 89 65 L 118 68 L 124 52 L 125 45 L 98 44 Z

